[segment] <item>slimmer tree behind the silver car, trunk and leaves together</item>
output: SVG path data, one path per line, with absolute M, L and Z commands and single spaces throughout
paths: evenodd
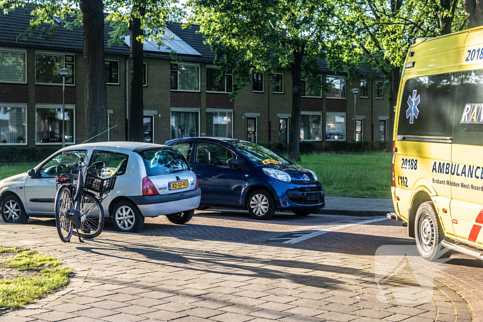
M 177 0 L 113 0 L 106 6 L 110 26 L 115 28 L 110 35 L 110 44 L 124 44 L 129 34 L 129 114 L 128 140 L 143 141 L 143 79 L 144 49 L 146 41 L 165 46 L 166 23 L 181 19 L 183 11 L 176 6 Z M 126 10 L 128 9 L 128 10 Z M 169 49 L 169 48 L 168 48 Z

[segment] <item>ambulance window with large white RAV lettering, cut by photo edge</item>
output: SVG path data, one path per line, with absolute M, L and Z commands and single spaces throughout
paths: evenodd
M 483 145 L 483 71 L 457 74 L 453 143 Z

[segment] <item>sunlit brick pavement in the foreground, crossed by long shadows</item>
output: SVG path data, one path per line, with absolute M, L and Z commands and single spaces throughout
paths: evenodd
M 0 245 L 47 252 L 75 270 L 67 288 L 0 321 L 471 319 L 444 285 L 418 287 L 404 270 L 375 283 L 375 263 L 351 254 L 110 232 L 61 243 L 50 227 L 0 227 Z

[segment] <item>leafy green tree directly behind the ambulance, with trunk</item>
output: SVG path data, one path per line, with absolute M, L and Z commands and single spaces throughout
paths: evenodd
M 400 74 L 411 39 L 462 30 L 463 0 L 348 0 L 343 7 L 327 43 L 329 66 L 348 72 L 349 79 L 364 66 L 384 73 L 392 139 Z

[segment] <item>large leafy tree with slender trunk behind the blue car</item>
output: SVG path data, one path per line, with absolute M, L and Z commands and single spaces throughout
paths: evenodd
M 292 118 L 289 158 L 299 161 L 302 91 L 322 87 L 322 70 L 335 1 L 329 0 L 190 0 L 193 17 L 215 52 L 215 63 L 235 75 L 232 99 L 252 81 L 253 72 L 264 72 L 273 82 L 277 68 L 292 74 Z

